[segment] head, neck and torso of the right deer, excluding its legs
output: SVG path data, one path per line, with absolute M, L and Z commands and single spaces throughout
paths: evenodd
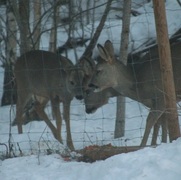
M 110 43 L 111 42 L 107 42 Z M 154 99 L 163 96 L 163 86 L 160 72 L 158 49 L 148 52 L 146 55 L 133 61 L 128 66 L 111 56 L 112 52 L 105 46 L 98 45 L 99 53 L 104 62 L 96 65 L 96 70 L 90 83 L 98 91 L 106 88 L 114 88 L 121 95 L 130 97 L 136 101 L 151 107 Z M 112 50 L 111 50 L 112 51 Z M 174 43 L 171 46 L 173 73 L 176 92 L 181 90 L 180 69 L 181 69 L 181 43 Z

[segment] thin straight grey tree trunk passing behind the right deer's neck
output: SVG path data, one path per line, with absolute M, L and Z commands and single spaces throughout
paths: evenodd
M 120 45 L 120 57 L 119 60 L 125 65 L 127 64 L 128 56 L 128 44 L 129 44 L 129 26 L 131 14 L 131 0 L 124 0 L 123 5 L 123 19 L 122 19 L 122 33 L 121 33 L 121 45 Z M 117 112 L 114 138 L 124 136 L 125 133 L 125 97 L 117 97 Z

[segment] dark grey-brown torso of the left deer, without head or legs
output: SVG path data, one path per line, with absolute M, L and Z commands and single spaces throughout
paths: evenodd
M 14 73 L 19 91 L 47 98 L 73 97 L 76 87 L 69 81 L 73 69 L 72 62 L 63 56 L 33 50 L 18 58 Z

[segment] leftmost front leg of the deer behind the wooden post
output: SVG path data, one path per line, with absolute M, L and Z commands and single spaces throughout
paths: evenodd
M 157 122 L 157 120 L 160 118 L 161 115 L 162 115 L 162 112 L 159 110 L 152 110 L 152 109 L 150 110 L 150 113 L 146 120 L 146 128 L 143 135 L 143 139 L 140 144 L 141 147 L 146 146 L 151 128 L 155 125 L 155 123 Z

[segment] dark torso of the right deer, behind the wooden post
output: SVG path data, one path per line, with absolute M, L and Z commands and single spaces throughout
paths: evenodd
M 154 50 L 154 51 L 153 51 Z M 140 58 L 141 64 L 136 67 L 132 63 L 132 74 L 134 75 L 134 88 L 137 89 L 138 96 L 142 99 L 150 99 L 163 95 L 163 81 L 161 78 L 161 68 L 158 48 L 154 48 Z M 176 93 L 181 90 L 181 42 L 171 45 L 171 58 Z M 139 63 L 139 61 L 137 63 Z

